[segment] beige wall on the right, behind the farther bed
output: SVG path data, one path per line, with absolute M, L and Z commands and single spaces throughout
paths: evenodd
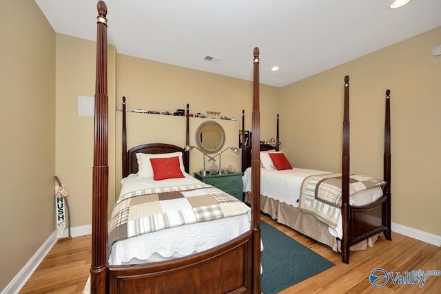
M 382 177 L 391 90 L 392 222 L 441 235 L 441 27 L 282 89 L 280 140 L 297 167 L 341 170 L 343 77 L 350 80 L 351 171 Z M 342 52 L 344 54 L 344 52 Z

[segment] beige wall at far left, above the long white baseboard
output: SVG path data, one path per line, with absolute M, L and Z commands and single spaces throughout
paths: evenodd
M 34 1 L 0 1 L 0 39 L 1 291 L 55 229 L 55 34 Z

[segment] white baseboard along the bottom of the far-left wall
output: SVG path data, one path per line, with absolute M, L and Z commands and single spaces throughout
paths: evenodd
M 23 269 L 14 277 L 14 279 L 1 291 L 1 294 L 16 294 L 19 293 L 21 288 L 28 282 L 30 276 L 37 269 L 39 264 L 43 261 L 46 255 L 48 255 L 52 246 L 57 243 L 57 232 L 54 231 L 41 245 L 40 249 L 32 256 L 28 263 L 23 266 Z

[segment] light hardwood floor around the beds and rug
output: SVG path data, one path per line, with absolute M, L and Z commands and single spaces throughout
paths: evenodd
M 427 277 L 422 288 L 393 284 L 390 280 L 383 288 L 375 288 L 369 282 L 369 274 L 377 268 L 393 273 L 418 269 L 441 270 L 439 246 L 392 233 L 392 241 L 380 238 L 373 248 L 352 252 L 350 263 L 342 264 L 341 255 L 331 251 L 329 247 L 283 224 L 277 224 L 269 216 L 263 215 L 261 219 L 336 264 L 280 293 L 441 293 L 441 276 Z M 90 263 L 90 235 L 57 243 L 20 293 L 82 293 L 88 280 Z

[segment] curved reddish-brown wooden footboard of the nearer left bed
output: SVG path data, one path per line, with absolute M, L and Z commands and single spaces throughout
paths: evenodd
M 252 232 L 188 258 L 108 271 L 109 293 L 251 293 Z

